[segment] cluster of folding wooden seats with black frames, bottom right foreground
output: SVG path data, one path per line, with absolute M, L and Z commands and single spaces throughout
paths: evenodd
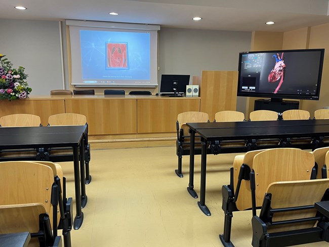
M 329 242 L 329 147 L 254 150 L 237 155 L 229 185 L 222 187 L 224 246 L 233 212 L 251 210 L 252 245 L 291 246 Z M 259 215 L 256 210 L 261 209 Z

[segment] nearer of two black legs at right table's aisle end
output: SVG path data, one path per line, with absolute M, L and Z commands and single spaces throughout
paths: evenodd
M 205 173 L 207 172 L 207 141 L 201 138 L 201 184 L 200 201 L 197 202 L 200 210 L 207 216 L 211 216 L 207 205 L 205 205 Z

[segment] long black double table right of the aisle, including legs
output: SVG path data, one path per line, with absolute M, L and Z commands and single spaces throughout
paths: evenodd
M 244 121 L 244 122 L 215 122 L 215 123 L 187 123 L 190 128 L 190 179 L 188 192 L 194 198 L 194 141 L 195 133 L 201 137 L 201 185 L 200 201 L 201 211 L 210 216 L 211 213 L 205 205 L 205 178 L 207 170 L 207 143 L 212 141 L 234 141 L 250 139 L 273 138 L 318 138 L 329 136 L 329 120 L 279 120 L 279 121 Z M 265 148 L 265 147 L 263 147 Z M 266 147 L 267 148 L 267 147 Z M 262 147 L 257 147 L 262 149 Z M 233 149 L 232 149 L 233 150 Z M 246 151 L 246 150 L 244 150 Z M 234 151 L 235 152 L 235 151 Z

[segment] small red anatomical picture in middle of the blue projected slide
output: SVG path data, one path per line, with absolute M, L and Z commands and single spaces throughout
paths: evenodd
M 128 69 L 127 47 L 127 43 L 106 43 L 106 69 Z

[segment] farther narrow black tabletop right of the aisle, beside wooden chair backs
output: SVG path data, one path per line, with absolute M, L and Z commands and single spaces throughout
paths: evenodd
M 270 126 L 314 126 L 329 125 L 329 119 L 274 120 L 274 121 L 238 121 L 238 122 L 191 122 L 186 125 L 193 131 L 197 129 L 227 129 Z

